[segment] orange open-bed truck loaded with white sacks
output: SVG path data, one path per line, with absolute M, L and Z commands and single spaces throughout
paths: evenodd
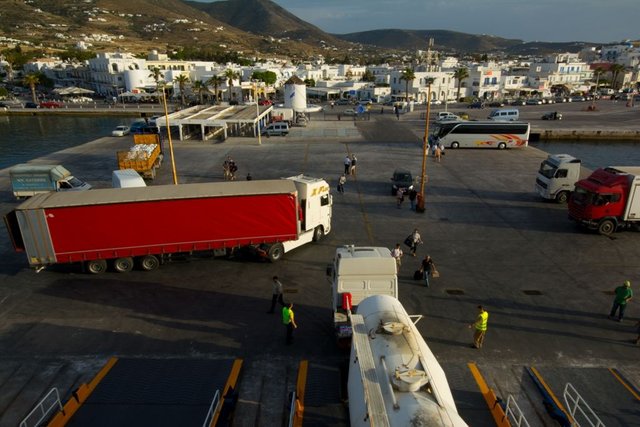
M 154 179 L 156 169 L 162 165 L 162 147 L 158 134 L 134 135 L 133 146 L 128 151 L 118 151 L 118 169 L 133 169 L 144 178 Z

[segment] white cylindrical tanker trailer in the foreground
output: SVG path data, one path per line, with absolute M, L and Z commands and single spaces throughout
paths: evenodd
M 444 370 L 396 298 L 374 295 L 352 314 L 349 417 L 352 427 L 466 427 Z

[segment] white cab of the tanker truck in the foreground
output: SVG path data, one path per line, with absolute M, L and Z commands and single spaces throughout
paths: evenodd
M 342 246 L 327 267 L 336 339 L 341 347 L 351 342 L 349 314 L 372 295 L 398 298 L 396 261 L 387 248 Z

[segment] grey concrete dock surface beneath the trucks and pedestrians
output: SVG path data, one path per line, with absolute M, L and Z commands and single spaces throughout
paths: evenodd
M 539 107 L 523 119 L 554 109 Z M 620 108 L 627 120 L 638 113 Z M 611 117 L 602 123 L 615 122 Z M 589 118 L 594 116 L 580 120 Z M 51 387 L 68 397 L 111 356 L 243 358 L 233 425 L 280 425 L 300 360 L 334 367 L 344 362 L 334 343 L 325 278 L 336 246 L 391 248 L 416 227 L 425 244 L 418 257 L 403 260 L 400 301 L 409 314 L 425 315 L 418 329 L 470 425 L 495 425 L 469 372 L 471 362 L 504 401 L 514 396 L 531 426 L 555 421 L 525 373 L 530 366 L 540 368 L 560 398 L 566 383 L 574 384 L 608 427 L 640 425 L 636 397 L 609 371 L 615 368 L 640 385 L 640 349 L 632 344 L 640 319 L 637 301 L 624 322 L 607 319 L 616 286 L 631 280 L 640 289 L 640 235 L 585 232 L 567 219 L 566 206 L 540 200 L 533 186 L 546 154 L 532 147 L 447 149 L 441 163 L 427 159 L 426 212 L 416 214 L 408 203 L 398 209 L 389 195 L 390 177 L 395 168 L 420 175 L 419 111 L 400 120 L 372 114 L 368 121 L 329 121 L 312 118 L 308 128 L 263 138 L 260 146 L 244 138 L 174 144 L 179 183 L 221 181 L 222 162 L 231 155 L 239 177 L 304 173 L 324 177 L 333 189 L 345 154 L 357 155 L 357 176 L 349 177 L 345 194 L 333 193 L 331 234 L 277 264 L 196 257 L 153 272 L 93 276 L 60 266 L 36 274 L 1 228 L 0 426 L 18 424 Z M 538 123 L 531 121 L 535 128 Z M 330 127 L 342 130 L 330 136 L 323 131 Z M 95 187 L 109 187 L 115 152 L 130 144 L 129 137 L 106 137 L 37 161 L 61 163 Z M 150 185 L 171 183 L 170 163 L 164 162 Z M 0 208 L 7 213 L 17 202 L 6 169 L 0 171 L 0 190 Z M 430 288 L 412 280 L 426 254 L 441 274 Z M 273 275 L 281 278 L 285 299 L 295 303 L 299 328 L 292 346 L 283 345 L 278 316 L 266 314 Z M 468 324 L 478 304 L 490 313 L 482 350 L 469 347 Z

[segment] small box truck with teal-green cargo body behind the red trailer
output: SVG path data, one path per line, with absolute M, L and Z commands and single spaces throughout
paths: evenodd
M 71 175 L 62 165 L 20 164 L 9 170 L 13 195 L 20 199 L 52 191 L 84 191 L 90 184 Z

